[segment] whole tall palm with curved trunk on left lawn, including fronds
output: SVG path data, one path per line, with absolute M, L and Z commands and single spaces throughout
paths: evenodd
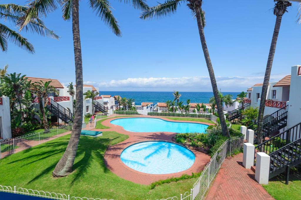
M 78 148 L 80 132 L 82 128 L 83 116 L 83 80 L 82 80 L 82 50 L 79 36 L 79 0 L 31 0 L 29 8 L 24 12 L 20 20 L 20 30 L 26 26 L 31 19 L 47 16 L 48 13 L 58 8 L 57 2 L 62 5 L 63 19 L 72 18 L 73 48 L 75 61 L 75 80 L 76 80 L 76 110 L 72 125 L 72 132 L 69 143 L 64 155 L 57 163 L 52 175 L 54 177 L 67 176 L 72 172 L 76 151 Z M 134 8 L 148 9 L 144 0 L 125 1 L 131 2 Z M 105 24 L 117 36 L 121 36 L 121 31 L 116 18 L 111 11 L 110 2 L 107 0 L 88 0 L 92 10 L 104 21 Z M 72 17 L 71 17 L 72 16 Z

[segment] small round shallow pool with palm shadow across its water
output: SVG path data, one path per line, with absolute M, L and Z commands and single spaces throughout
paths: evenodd
M 170 142 L 141 142 L 127 147 L 121 161 L 136 171 L 147 174 L 171 174 L 190 168 L 195 160 L 193 152 Z

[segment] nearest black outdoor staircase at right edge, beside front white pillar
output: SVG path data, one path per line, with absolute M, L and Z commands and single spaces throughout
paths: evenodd
M 271 157 L 269 179 L 286 171 L 288 184 L 290 168 L 301 164 L 301 122 L 259 144 L 256 152 Z

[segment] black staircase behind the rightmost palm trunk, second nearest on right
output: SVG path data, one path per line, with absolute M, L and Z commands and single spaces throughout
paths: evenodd
M 277 133 L 281 128 L 287 125 L 287 111 L 288 106 L 285 106 L 276 112 L 263 118 L 262 121 L 262 136 L 272 136 Z M 247 129 L 252 129 L 254 131 L 254 143 L 257 143 L 257 126 L 258 122 L 250 125 Z

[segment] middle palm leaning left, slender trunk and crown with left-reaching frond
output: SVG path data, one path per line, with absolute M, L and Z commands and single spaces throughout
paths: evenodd
M 210 60 L 209 51 L 205 40 L 205 34 L 204 34 L 205 18 L 204 18 L 204 12 L 202 10 L 202 0 L 166 0 L 166 2 L 151 7 L 146 11 L 142 12 L 140 18 L 147 20 L 151 18 L 169 16 L 176 12 L 178 5 L 185 2 L 187 3 L 188 8 L 191 9 L 192 13 L 197 19 L 197 27 L 199 29 L 200 41 L 201 41 L 204 57 L 206 60 L 209 77 L 211 80 L 213 94 L 216 99 L 217 112 L 219 114 L 219 118 L 222 126 L 222 133 L 223 135 L 230 137 L 229 130 L 227 128 L 225 118 L 224 118 L 222 104 L 219 100 L 219 93 L 216 85 L 213 66 Z

